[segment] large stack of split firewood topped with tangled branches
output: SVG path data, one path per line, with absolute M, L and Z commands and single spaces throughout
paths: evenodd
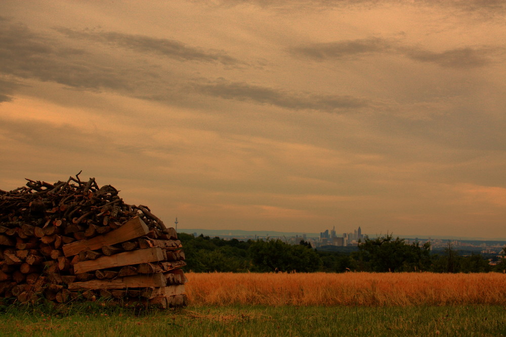
M 186 305 L 174 228 L 79 173 L 0 190 L 0 298 Z

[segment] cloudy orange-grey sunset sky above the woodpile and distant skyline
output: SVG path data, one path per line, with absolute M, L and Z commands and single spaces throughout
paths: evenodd
M 503 1 L 0 2 L 0 189 L 184 228 L 506 237 Z

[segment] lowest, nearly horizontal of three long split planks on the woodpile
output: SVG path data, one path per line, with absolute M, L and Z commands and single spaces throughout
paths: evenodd
M 86 282 L 69 283 L 69 290 L 79 289 L 123 289 L 123 288 L 146 288 L 164 287 L 167 281 L 163 274 L 135 275 L 118 277 L 112 280 L 90 280 Z

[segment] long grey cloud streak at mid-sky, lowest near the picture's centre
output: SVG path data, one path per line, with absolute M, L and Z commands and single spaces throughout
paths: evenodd
M 193 83 L 192 87 L 206 95 L 226 100 L 249 101 L 257 104 L 270 104 L 292 110 L 357 110 L 365 108 L 369 102 L 348 95 L 290 92 L 244 82 L 231 82 L 223 78 L 207 83 Z

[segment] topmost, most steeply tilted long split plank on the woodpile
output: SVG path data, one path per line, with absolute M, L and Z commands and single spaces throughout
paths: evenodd
M 149 232 L 148 226 L 138 216 L 126 221 L 121 227 L 114 229 L 104 235 L 79 240 L 63 245 L 63 253 L 66 257 L 79 254 L 83 250 L 97 250 L 103 246 L 119 244 L 146 235 Z

